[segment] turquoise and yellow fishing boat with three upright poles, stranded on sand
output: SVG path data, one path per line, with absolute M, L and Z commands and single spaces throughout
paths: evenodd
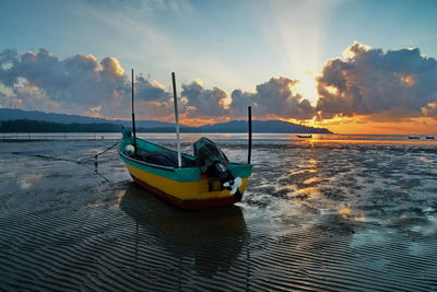
M 208 138 L 194 143 L 194 154 L 180 153 L 176 81 L 173 73 L 177 151 L 135 136 L 132 70 L 132 130 L 118 145 L 120 159 L 133 180 L 155 196 L 186 210 L 231 206 L 243 198 L 251 175 L 251 110 L 249 107 L 248 163 L 232 163 Z

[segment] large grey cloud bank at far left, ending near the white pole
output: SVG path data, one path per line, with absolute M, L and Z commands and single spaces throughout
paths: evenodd
M 0 100 L 2 106 L 20 101 L 15 104 L 42 110 L 118 116 L 130 104 L 130 80 L 111 57 L 98 61 L 92 55 L 75 55 L 60 60 L 46 49 L 22 55 L 5 49 L 0 52 L 0 84 L 12 92 Z M 169 100 L 160 84 L 142 77 L 135 80 L 135 91 L 140 101 L 154 101 L 152 108 L 162 108 L 160 103 Z

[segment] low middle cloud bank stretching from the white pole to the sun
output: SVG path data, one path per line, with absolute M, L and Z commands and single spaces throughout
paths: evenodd
M 293 93 L 297 80 L 272 78 L 257 85 L 256 92 L 233 91 L 229 97 L 218 89 L 204 89 L 194 81 L 182 85 L 181 96 L 188 118 L 206 117 L 246 117 L 247 107 L 252 106 L 257 118 L 296 118 L 310 119 L 316 114 L 308 100 Z

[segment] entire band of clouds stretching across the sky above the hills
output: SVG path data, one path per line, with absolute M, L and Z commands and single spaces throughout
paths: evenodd
M 318 81 L 312 106 L 296 92 L 298 80 L 280 77 L 255 91 L 206 89 L 201 81 L 181 85 L 182 118 L 240 118 L 252 106 L 258 119 L 366 117 L 369 121 L 437 118 L 437 61 L 416 49 L 382 51 L 354 43 L 343 58 L 329 60 Z M 130 72 L 129 72 L 130 73 Z M 138 118 L 173 119 L 173 94 L 156 81 L 135 78 Z M 0 51 L 0 106 L 103 117 L 130 117 L 130 74 L 113 57 L 59 59 L 46 49 Z

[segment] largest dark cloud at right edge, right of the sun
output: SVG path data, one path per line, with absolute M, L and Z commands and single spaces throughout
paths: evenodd
M 317 110 L 323 118 L 420 117 L 437 102 L 437 61 L 417 48 L 383 52 L 355 42 L 343 55 L 328 61 L 317 80 Z

